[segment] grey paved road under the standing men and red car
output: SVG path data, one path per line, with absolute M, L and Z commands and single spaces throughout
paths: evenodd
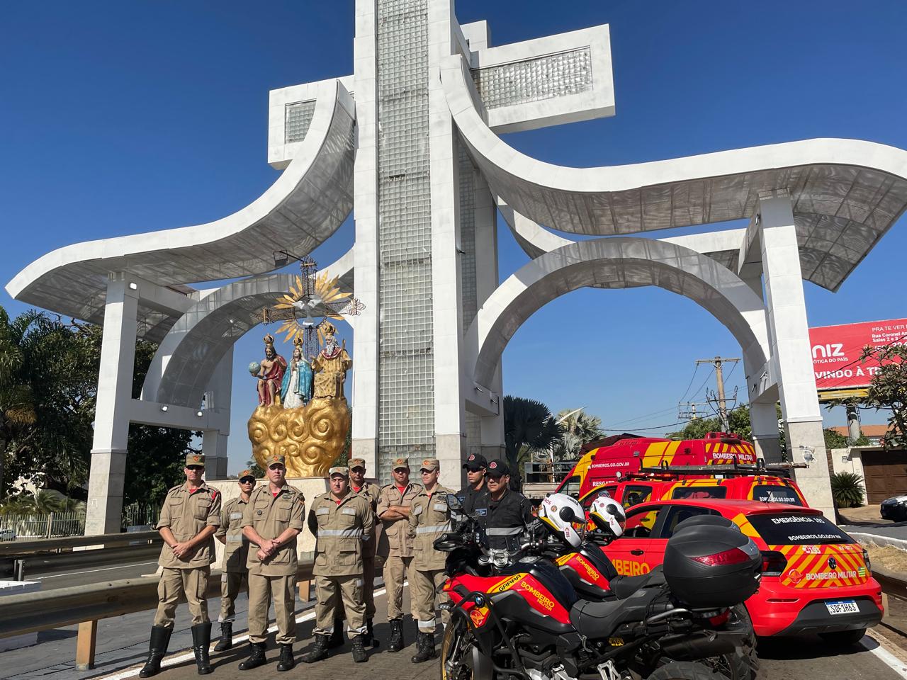
M 377 597 L 378 620 L 384 616 L 385 597 Z M 297 660 L 306 651 L 311 641 L 313 622 L 311 621 L 311 602 L 305 605 L 297 601 L 297 612 L 303 621 L 297 626 L 297 635 L 302 640 L 296 646 Z M 239 622 L 245 623 L 246 602 L 243 598 L 237 603 Z M 216 617 L 219 602 L 210 601 L 210 612 Z M 405 598 L 404 610 L 408 610 L 408 597 Z M 151 612 L 139 612 L 126 617 L 110 618 L 100 622 L 98 632 L 98 667 L 94 671 L 79 673 L 74 669 L 75 628 L 42 634 L 39 645 L 25 649 L 8 651 L 3 654 L 4 664 L 0 665 L 0 680 L 83 680 L 92 677 L 110 677 L 110 680 L 125 680 L 137 677 L 137 673 L 148 649 L 148 630 L 151 626 Z M 190 622 L 185 606 L 178 610 L 176 632 L 171 641 L 171 665 L 161 672 L 161 680 L 196 680 L 195 664 L 185 650 L 191 646 Z M 215 631 L 217 625 L 214 626 Z M 377 636 L 385 640 L 389 630 L 385 623 L 375 626 Z M 390 654 L 382 647 L 370 652 L 368 664 L 353 664 L 347 644 L 335 656 L 317 664 L 300 664 L 293 673 L 306 677 L 343 678 L 369 677 L 375 680 L 436 680 L 437 663 L 414 665 L 410 656 L 414 654 L 415 627 L 407 617 L 405 627 L 406 642 L 409 646 L 398 654 Z M 880 643 L 873 636 L 863 638 L 861 646 L 853 649 L 834 649 L 824 645 L 816 637 L 797 637 L 784 640 L 760 642 L 759 656 L 762 663 L 760 680 L 827 680 L 829 677 L 841 680 L 899 680 L 907 678 L 907 653 L 889 642 Z M 894 636 L 897 638 L 897 636 Z M 905 645 L 902 638 L 896 639 Z M 386 642 L 385 642 L 386 644 Z M 905 645 L 907 646 L 907 645 Z M 277 673 L 277 651 L 273 638 L 268 645 L 270 663 L 258 669 L 254 678 L 248 673 L 241 673 L 237 666 L 247 655 L 246 642 L 240 642 L 229 652 L 212 654 L 215 666 L 213 678 L 217 680 L 260 680 L 262 677 L 283 680 L 285 674 Z M 885 656 L 888 662 L 899 665 L 892 655 L 900 656 L 905 662 L 902 672 L 894 670 L 879 655 Z M 166 663 L 166 662 L 165 662 Z

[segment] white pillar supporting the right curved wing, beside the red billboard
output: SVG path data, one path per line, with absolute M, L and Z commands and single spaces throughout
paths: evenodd
M 803 275 L 790 199 L 759 199 L 766 321 L 788 457 L 809 467 L 795 471 L 809 504 L 834 520 L 819 400 L 806 324 Z

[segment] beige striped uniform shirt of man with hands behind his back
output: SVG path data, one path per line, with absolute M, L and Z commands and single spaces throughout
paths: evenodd
M 312 574 L 362 576 L 363 553 L 375 529 L 368 500 L 347 493 L 338 503 L 328 491 L 315 499 L 310 513 L 309 526 L 317 531 Z

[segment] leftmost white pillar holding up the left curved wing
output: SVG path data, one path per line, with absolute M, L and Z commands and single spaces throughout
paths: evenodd
M 138 288 L 132 286 L 123 272 L 113 272 L 107 283 L 86 536 L 120 531 L 139 306 Z

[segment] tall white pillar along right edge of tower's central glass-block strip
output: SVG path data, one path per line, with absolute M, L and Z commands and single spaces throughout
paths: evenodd
M 452 487 L 461 479 L 466 452 L 466 410 L 458 360 L 463 354 L 460 159 L 440 66 L 451 54 L 455 21 L 453 3 L 435 0 L 428 5 L 434 449 L 441 462 L 441 481 Z

